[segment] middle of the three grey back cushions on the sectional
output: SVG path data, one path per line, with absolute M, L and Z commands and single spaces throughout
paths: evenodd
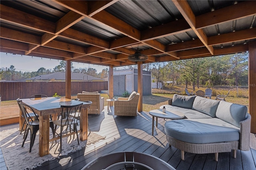
M 216 110 L 220 101 L 196 96 L 192 109 L 202 112 L 211 117 L 216 117 Z

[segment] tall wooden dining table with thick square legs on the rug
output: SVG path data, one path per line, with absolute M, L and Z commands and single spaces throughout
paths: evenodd
M 66 99 L 65 97 L 46 97 L 21 99 L 23 103 L 32 107 L 34 112 L 39 116 L 39 155 L 49 154 L 49 142 L 56 140 L 50 139 L 50 115 L 52 119 L 57 119 L 57 115 L 62 112 L 61 105 L 78 105 L 83 103 L 80 110 L 80 140 L 87 140 L 88 137 L 88 108 L 91 103 Z M 20 112 L 20 115 L 22 113 Z M 24 118 L 23 118 L 24 119 Z M 20 116 L 19 128 L 22 129 L 22 117 Z

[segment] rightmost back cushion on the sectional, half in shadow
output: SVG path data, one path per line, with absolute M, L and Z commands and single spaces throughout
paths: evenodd
M 236 127 L 240 127 L 240 122 L 247 118 L 247 107 L 220 101 L 216 111 L 216 117 Z

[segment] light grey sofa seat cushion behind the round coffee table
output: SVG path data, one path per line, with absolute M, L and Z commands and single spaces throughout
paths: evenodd
M 180 111 L 185 115 L 185 118 L 188 119 L 210 119 L 212 118 L 209 115 L 206 115 L 204 113 L 201 113 L 199 111 L 195 111 L 192 109 L 187 109 L 187 108 L 182 108 L 182 107 L 177 107 L 177 106 L 172 106 L 172 105 L 162 105 L 160 109 L 162 109 L 165 106 L 166 109 L 172 109 L 174 111 Z

